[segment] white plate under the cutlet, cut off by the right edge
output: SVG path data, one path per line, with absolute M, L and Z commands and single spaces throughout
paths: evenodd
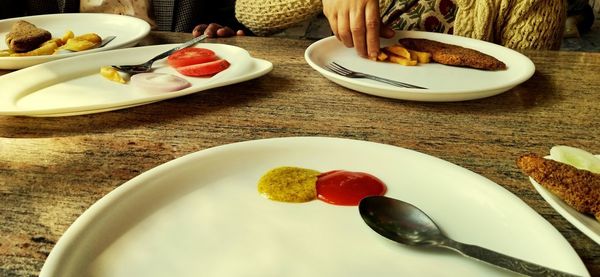
M 600 157 L 600 155 L 597 156 Z M 562 201 L 562 199 L 560 199 L 558 196 L 554 195 L 538 184 L 533 178 L 530 177 L 529 180 L 542 198 L 544 198 L 544 200 L 546 200 L 546 202 L 548 202 L 548 204 L 550 204 L 554 210 L 556 210 L 567 221 L 573 224 L 573 226 L 579 229 L 590 239 L 595 241 L 597 244 L 600 244 L 600 222 L 591 216 L 584 215 L 571 208 L 571 206 Z

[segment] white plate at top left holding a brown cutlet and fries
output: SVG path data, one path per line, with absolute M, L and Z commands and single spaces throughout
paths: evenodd
M 27 16 L 0 20 L 0 38 L 2 38 L 0 49 L 8 49 L 4 38 L 10 32 L 12 24 L 18 20 L 26 20 L 37 27 L 46 29 L 52 34 L 52 37 L 62 37 L 64 33 L 71 30 L 76 36 L 96 33 L 102 38 L 107 36 L 116 36 L 116 38 L 102 48 L 81 52 L 32 57 L 0 57 L 1 69 L 20 69 L 57 59 L 134 46 L 150 32 L 150 25 L 146 21 L 124 15 L 66 13 Z

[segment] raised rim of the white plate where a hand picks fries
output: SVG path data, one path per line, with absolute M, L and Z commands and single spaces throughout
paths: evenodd
M 438 97 L 433 97 L 433 99 L 432 99 L 430 97 L 431 90 L 428 91 L 428 90 L 412 89 L 412 88 L 395 88 L 392 86 L 388 86 L 388 85 L 384 85 L 384 84 L 375 84 L 375 83 L 373 83 L 373 84 L 369 83 L 368 85 L 365 86 L 364 83 L 360 82 L 357 79 L 342 77 L 342 76 L 337 75 L 328 70 L 324 70 L 320 65 L 318 65 L 312 59 L 312 55 L 315 52 L 315 49 L 317 49 L 318 47 L 321 47 L 321 45 L 324 45 L 327 43 L 332 43 L 332 41 L 337 41 L 337 38 L 335 36 L 326 37 L 326 38 L 323 38 L 323 39 L 313 42 L 305 50 L 304 59 L 314 70 L 319 72 L 321 75 L 323 75 L 327 79 L 329 79 L 341 86 L 344 86 L 346 88 L 356 90 L 361 93 L 385 97 L 385 98 L 411 100 L 411 101 L 426 101 L 426 102 L 466 101 L 466 100 L 475 100 L 475 99 L 481 99 L 481 98 L 494 96 L 494 95 L 500 94 L 502 92 L 506 92 L 506 91 L 510 90 L 511 88 L 526 82 L 535 73 L 535 64 L 529 57 L 525 56 L 524 54 L 522 54 L 518 51 L 515 51 L 513 49 L 510 49 L 510 48 L 507 48 L 507 47 L 504 47 L 504 46 L 501 46 L 501 45 L 498 45 L 495 43 L 491 43 L 491 42 L 483 41 L 483 40 L 477 40 L 477 39 L 468 38 L 468 37 L 434 33 L 434 32 L 423 32 L 423 31 L 396 31 L 395 37 L 403 36 L 403 35 L 406 35 L 408 37 L 428 38 L 428 39 L 434 39 L 434 40 L 440 39 L 440 38 L 442 40 L 451 39 L 451 40 L 465 41 L 465 42 L 469 42 L 469 43 L 474 43 L 476 45 L 483 45 L 483 46 L 492 47 L 492 48 L 496 48 L 496 49 L 502 49 L 503 51 L 507 51 L 511 55 L 515 55 L 516 57 L 519 57 L 519 59 L 521 59 L 522 62 L 524 62 L 526 64 L 526 66 L 523 68 L 523 70 L 526 72 L 526 74 L 523 74 L 522 76 L 520 76 L 520 78 L 517 78 L 510 84 L 497 85 L 495 87 L 488 87 L 485 89 L 486 93 L 482 93 L 482 91 L 479 89 L 435 90 L 435 93 L 438 94 Z M 385 39 L 382 38 L 382 41 L 384 41 L 384 40 Z M 461 44 L 456 43 L 456 42 L 454 44 L 461 46 Z M 468 47 L 477 50 L 477 47 L 472 47 L 472 46 L 468 46 Z M 357 56 L 357 58 L 358 58 L 358 56 Z M 365 87 L 367 87 L 367 88 L 365 89 Z M 376 89 L 376 90 L 383 91 L 383 92 L 369 91 L 370 89 Z M 404 94 L 401 94 L 398 96 L 390 96 L 389 95 L 390 93 L 394 93 L 394 94 L 404 93 Z

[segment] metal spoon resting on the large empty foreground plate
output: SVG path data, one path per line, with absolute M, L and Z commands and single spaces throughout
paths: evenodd
M 491 265 L 529 276 L 576 276 L 446 237 L 417 207 L 385 196 L 370 196 L 358 206 L 363 220 L 380 235 L 412 246 L 443 247 Z

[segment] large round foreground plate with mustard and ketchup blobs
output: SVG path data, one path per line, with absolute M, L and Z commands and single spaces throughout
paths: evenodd
M 550 223 L 480 175 L 399 147 L 302 137 L 215 147 L 135 177 L 68 228 L 41 275 L 507 274 L 452 251 L 389 241 L 362 221 L 357 207 L 259 195 L 260 176 L 284 165 L 374 174 L 388 185 L 388 196 L 422 208 L 459 241 L 589 275 Z

